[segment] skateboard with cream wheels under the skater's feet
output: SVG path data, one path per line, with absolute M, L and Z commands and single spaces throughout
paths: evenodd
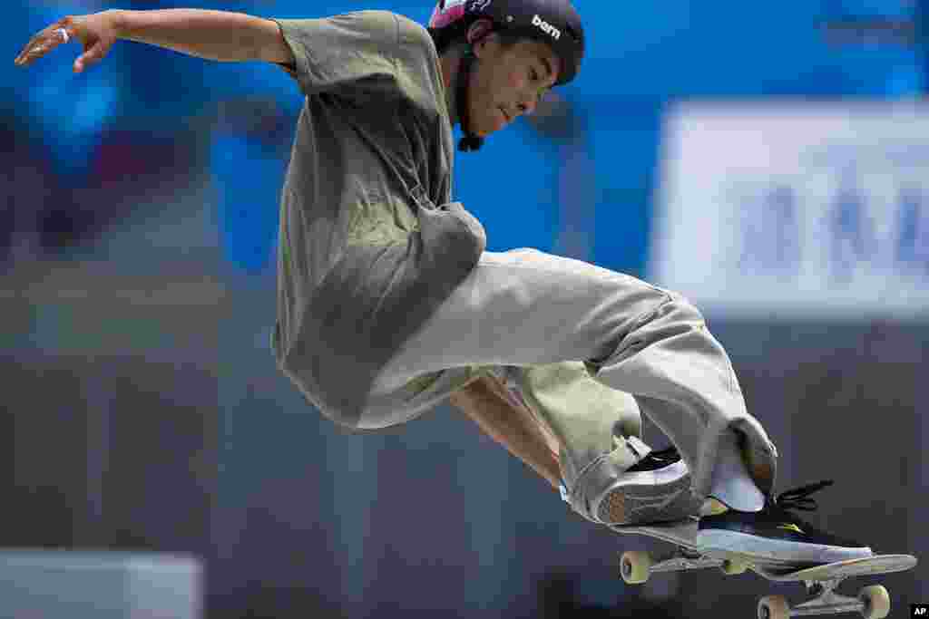
M 646 582 L 651 574 L 719 568 L 725 574 L 743 574 L 751 570 L 772 582 L 802 582 L 807 601 L 795 606 L 783 596 L 767 596 L 758 601 L 758 619 L 789 619 L 813 614 L 861 613 L 865 619 L 883 619 L 890 613 L 887 589 L 877 585 L 862 588 L 857 598 L 836 592 L 845 578 L 872 574 L 904 572 L 916 565 L 910 555 L 875 555 L 866 559 L 837 561 L 813 567 L 790 561 L 756 560 L 731 553 L 702 553 L 694 540 L 697 519 L 652 526 L 612 526 L 622 535 L 654 537 L 675 547 L 671 553 L 652 556 L 630 550 L 622 553 L 620 574 L 630 585 Z

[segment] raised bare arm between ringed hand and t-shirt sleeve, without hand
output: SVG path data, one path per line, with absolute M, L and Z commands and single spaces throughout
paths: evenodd
M 199 8 L 117 11 L 120 39 L 158 45 L 217 62 L 292 64 L 293 53 L 270 19 Z

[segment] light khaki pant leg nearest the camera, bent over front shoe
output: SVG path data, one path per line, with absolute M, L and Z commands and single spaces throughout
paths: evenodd
M 565 361 L 582 361 L 609 388 L 635 396 L 680 450 L 698 498 L 709 492 L 719 439 L 732 430 L 759 487 L 771 492 L 775 446 L 748 414 L 729 358 L 697 309 L 635 277 L 541 251 L 485 251 L 380 372 L 371 414 L 424 374 Z M 582 431 L 569 435 L 587 440 Z

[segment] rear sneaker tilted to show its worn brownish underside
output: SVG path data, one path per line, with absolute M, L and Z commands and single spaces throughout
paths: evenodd
M 690 471 L 674 446 L 652 451 L 623 472 L 594 506 L 600 522 L 643 525 L 686 520 L 699 513 Z

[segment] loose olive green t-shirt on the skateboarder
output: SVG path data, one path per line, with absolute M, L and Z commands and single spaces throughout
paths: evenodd
M 378 370 L 477 264 L 428 32 L 386 11 L 276 20 L 300 113 L 281 194 L 278 363 L 353 425 Z

